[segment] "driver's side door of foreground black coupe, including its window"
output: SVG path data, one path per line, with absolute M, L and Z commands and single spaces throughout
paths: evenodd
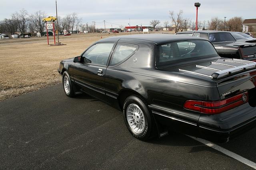
M 105 74 L 108 57 L 114 42 L 96 43 L 82 55 L 82 61 L 75 63 L 74 81 L 84 92 L 102 100 L 105 99 Z

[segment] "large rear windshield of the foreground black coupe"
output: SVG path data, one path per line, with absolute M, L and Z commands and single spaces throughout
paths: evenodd
M 156 66 L 218 56 L 209 41 L 186 40 L 157 46 Z

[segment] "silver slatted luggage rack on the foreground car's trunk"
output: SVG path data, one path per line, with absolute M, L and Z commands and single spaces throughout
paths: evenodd
M 252 70 L 252 69 L 256 68 L 256 62 L 253 62 L 253 61 L 240 60 L 240 59 L 224 59 L 223 61 L 224 61 L 224 63 L 211 62 L 211 64 L 228 66 L 228 67 L 232 67 L 232 68 L 228 68 L 225 70 L 219 70 L 219 69 L 211 68 L 211 67 L 207 67 L 207 66 L 196 65 L 197 68 L 203 68 L 203 69 L 207 69 L 207 70 L 216 71 L 216 72 L 212 73 L 211 75 L 202 74 L 202 73 L 198 73 L 198 72 L 194 72 L 194 71 L 182 70 L 182 69 L 179 69 L 179 71 L 209 77 L 209 78 L 212 78 L 213 80 L 218 80 L 218 79 L 221 79 L 224 77 L 231 76 L 232 74 L 234 74 L 235 72 L 238 72 L 238 71 L 247 71 L 247 70 Z M 241 65 L 234 66 L 234 65 L 226 64 L 225 62 L 226 63 L 237 63 L 237 64 L 241 64 Z

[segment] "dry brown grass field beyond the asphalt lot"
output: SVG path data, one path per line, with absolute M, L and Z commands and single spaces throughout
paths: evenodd
M 61 36 L 60 42 L 66 44 L 62 46 L 47 45 L 45 37 L 0 41 L 0 101 L 60 83 L 57 68 L 61 60 L 78 56 L 93 42 L 109 36 L 115 35 Z M 49 41 L 54 43 L 52 37 Z

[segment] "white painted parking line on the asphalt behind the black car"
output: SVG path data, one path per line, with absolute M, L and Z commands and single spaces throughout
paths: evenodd
M 222 148 L 222 147 L 220 147 L 220 146 L 218 146 L 218 145 L 216 145 L 214 143 L 211 143 L 210 141 L 206 141 L 204 139 L 192 137 L 192 136 L 189 136 L 189 135 L 186 135 L 186 136 L 188 136 L 188 137 L 190 137 L 190 138 L 192 138 L 192 139 L 194 139 L 194 140 L 196 140 L 196 141 L 198 141 L 200 143 L 203 143 L 204 145 L 206 145 L 208 147 L 211 147 L 211 148 L 213 148 L 215 150 L 218 150 L 218 151 L 220 151 L 220 152 L 230 156 L 231 158 L 234 158 L 234 159 L 236 159 L 236 160 L 238 160 L 238 161 L 240 161 L 240 162 L 242 162 L 242 163 L 244 163 L 244 164 L 246 164 L 246 165 L 256 169 L 256 163 L 255 162 L 252 162 L 252 161 L 250 161 L 250 160 L 248 160 L 248 159 L 246 159 L 246 158 L 244 158 L 244 157 L 242 157 L 242 156 L 240 156 L 240 155 L 238 155 L 238 154 L 236 154 L 234 152 L 231 152 L 231 151 L 229 151 L 227 149 L 224 149 L 224 148 Z

